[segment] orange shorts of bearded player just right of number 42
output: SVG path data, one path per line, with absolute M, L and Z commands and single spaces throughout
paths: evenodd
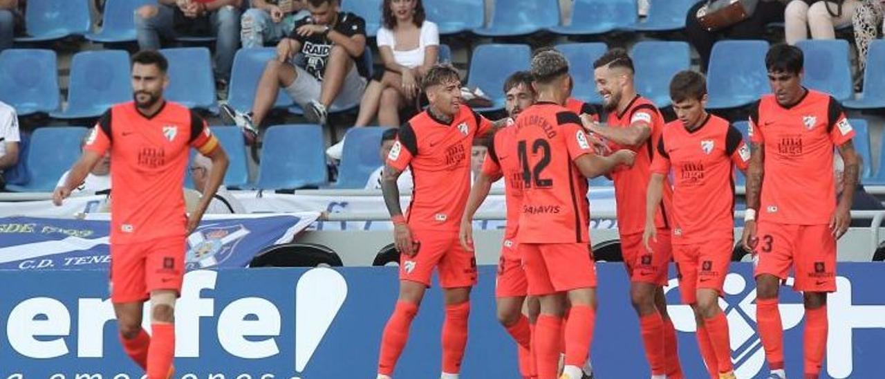
M 620 253 L 627 266 L 630 282 L 648 282 L 665 286 L 670 257 L 673 254 L 670 246 L 670 229 L 658 229 L 658 242 L 651 241 L 652 254 L 643 245 L 643 234 L 634 233 L 620 236 Z

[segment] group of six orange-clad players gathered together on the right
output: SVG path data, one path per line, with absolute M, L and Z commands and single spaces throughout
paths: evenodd
M 827 293 L 835 291 L 836 240 L 850 222 L 859 163 L 841 105 L 802 86 L 803 65 L 796 47 L 768 51 L 772 94 L 750 107 L 750 146 L 727 120 L 704 110 L 700 73 L 673 77 L 678 120 L 666 123 L 636 93 L 633 62 L 621 49 L 593 65 L 607 125 L 592 106 L 570 97 L 569 64 L 557 50 L 535 53 L 528 72 L 508 78 L 509 117 L 496 122 L 462 104 L 458 71 L 433 67 L 422 82 L 429 106 L 400 128 L 381 181 L 401 260 L 378 378 L 393 375 L 434 268 L 445 302 L 441 378 L 458 378 L 477 281 L 473 214 L 501 179 L 507 227 L 496 305 L 518 344 L 519 373 L 591 377 L 597 283 L 586 194 L 587 178 L 599 175 L 614 182 L 621 251 L 651 378 L 684 377 L 663 291 L 671 260 L 682 301 L 694 310 L 710 376 L 735 378 L 719 306 L 735 238 L 735 167 L 747 176 L 743 246 L 753 252 L 758 334 L 770 377 L 786 377 L 778 292 L 792 267 L 793 288 L 804 292 L 804 377 L 817 378 L 827 345 Z M 488 141 L 489 153 L 471 189 L 468 152 L 477 138 Z M 834 151 L 845 166 L 838 198 Z M 414 190 L 404 215 L 396 178 L 406 167 Z

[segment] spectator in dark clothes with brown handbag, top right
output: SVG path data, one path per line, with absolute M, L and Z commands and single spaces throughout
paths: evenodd
M 685 20 L 685 32 L 689 43 L 695 46 L 701 56 L 701 70 L 706 72 L 710 63 L 713 44 L 720 40 L 761 40 L 766 33 L 766 25 L 772 22 L 783 22 L 784 3 L 786 0 L 760 0 L 756 11 L 749 19 L 744 19 L 730 27 L 717 31 L 709 31 L 697 21 L 697 11 L 707 4 L 699 1 L 689 9 Z

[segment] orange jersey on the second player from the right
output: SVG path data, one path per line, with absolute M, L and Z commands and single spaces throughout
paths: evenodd
M 664 127 L 656 152 L 652 173 L 673 168 L 673 244 L 734 236 L 734 167 L 745 170 L 750 161 L 741 132 L 712 114 L 690 131 L 675 120 Z

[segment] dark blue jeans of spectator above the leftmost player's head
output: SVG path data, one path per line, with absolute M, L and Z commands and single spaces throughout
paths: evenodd
M 142 50 L 160 49 L 160 38 L 172 40 L 177 35 L 174 25 L 174 5 L 156 5 L 157 15 L 142 18 L 135 12 L 135 31 L 138 47 Z M 227 81 L 230 69 L 234 66 L 234 55 L 240 46 L 240 9 L 231 5 L 223 6 L 209 14 L 212 34 L 215 35 L 215 77 Z

